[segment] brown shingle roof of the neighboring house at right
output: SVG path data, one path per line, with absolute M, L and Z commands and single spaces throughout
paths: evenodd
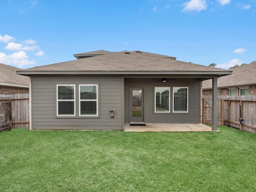
M 256 62 L 232 68 L 232 75 L 218 78 L 218 88 L 256 84 Z M 212 89 L 212 80 L 203 81 L 203 89 Z

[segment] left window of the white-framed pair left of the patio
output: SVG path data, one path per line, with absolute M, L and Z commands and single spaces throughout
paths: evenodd
M 75 85 L 57 85 L 57 115 L 75 116 Z

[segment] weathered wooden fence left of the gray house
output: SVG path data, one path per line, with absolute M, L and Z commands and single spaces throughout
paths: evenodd
M 29 94 L 0 94 L 11 100 L 12 128 L 29 128 Z

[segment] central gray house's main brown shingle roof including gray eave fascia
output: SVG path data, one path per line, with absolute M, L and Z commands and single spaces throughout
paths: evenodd
M 100 51 L 101 52 L 101 51 Z M 105 52 L 105 51 L 104 51 Z M 90 52 L 89 52 L 90 53 Z M 95 53 L 95 52 L 94 52 Z M 97 52 L 96 52 L 97 53 Z M 100 54 L 78 60 L 38 66 L 18 74 L 192 74 L 223 76 L 232 72 L 188 62 L 174 57 L 141 51 Z

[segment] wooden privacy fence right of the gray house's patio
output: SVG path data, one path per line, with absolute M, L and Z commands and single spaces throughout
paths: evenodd
M 212 95 L 204 96 L 202 103 L 202 122 L 212 124 Z M 256 133 L 256 96 L 218 96 L 217 110 L 217 125 Z

